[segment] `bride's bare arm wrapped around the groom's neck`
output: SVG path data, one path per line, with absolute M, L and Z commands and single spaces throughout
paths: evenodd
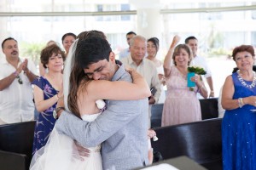
M 92 81 L 86 91 L 94 99 L 131 100 L 145 99 L 151 95 L 148 83 L 135 70 L 129 71 L 133 82 Z

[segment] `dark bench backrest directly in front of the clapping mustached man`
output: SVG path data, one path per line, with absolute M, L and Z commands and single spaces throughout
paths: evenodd
M 35 121 L 18 122 L 0 126 L 0 150 L 24 154 L 26 166 L 32 159 Z

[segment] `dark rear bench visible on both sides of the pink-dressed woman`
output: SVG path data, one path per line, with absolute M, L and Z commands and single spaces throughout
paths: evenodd
M 218 117 L 218 98 L 199 99 L 202 120 Z M 151 127 L 160 127 L 164 104 L 155 104 L 151 107 Z

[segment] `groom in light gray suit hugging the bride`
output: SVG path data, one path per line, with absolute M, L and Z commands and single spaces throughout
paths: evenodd
M 86 44 L 83 48 L 78 45 L 76 49 L 88 59 L 85 74 L 94 80 L 132 82 L 131 75 L 115 60 L 113 52 L 108 56 L 102 53 L 110 48 L 105 41 L 91 37 L 79 42 Z M 97 54 L 97 57 L 91 58 L 91 54 Z M 86 147 L 102 144 L 103 169 L 132 169 L 148 165 L 148 99 L 108 100 L 106 103 L 108 109 L 94 122 L 82 121 L 63 111 L 55 127 Z

